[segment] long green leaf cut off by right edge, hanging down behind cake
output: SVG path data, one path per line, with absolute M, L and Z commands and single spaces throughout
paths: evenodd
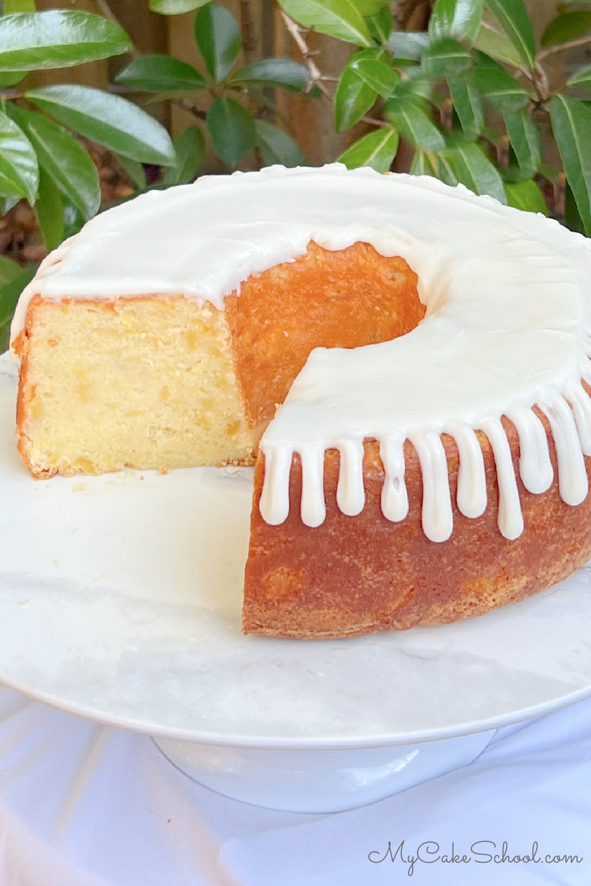
M 548 102 L 552 132 L 587 237 L 591 235 L 591 109 L 576 98 Z

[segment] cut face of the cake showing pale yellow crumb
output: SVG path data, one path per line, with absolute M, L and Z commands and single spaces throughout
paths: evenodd
M 20 447 L 33 470 L 248 462 L 254 431 L 223 312 L 179 298 L 39 300 Z

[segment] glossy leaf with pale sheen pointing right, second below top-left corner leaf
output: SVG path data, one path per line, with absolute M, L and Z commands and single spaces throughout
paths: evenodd
M 89 86 L 61 84 L 31 89 L 26 97 L 67 127 L 104 144 L 110 151 L 141 163 L 167 166 L 175 161 L 167 130 L 127 98 Z

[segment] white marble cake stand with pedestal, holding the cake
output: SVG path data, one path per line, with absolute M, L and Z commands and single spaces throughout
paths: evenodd
M 0 357 L 0 680 L 157 737 L 199 781 L 327 811 L 591 695 L 591 570 L 484 618 L 344 641 L 240 633 L 252 475 L 35 482 Z M 461 736 L 464 736 L 463 738 Z M 429 743 L 425 743 L 429 742 Z

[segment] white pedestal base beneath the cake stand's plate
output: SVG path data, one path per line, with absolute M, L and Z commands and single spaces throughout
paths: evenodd
M 353 750 L 262 750 L 155 738 L 194 781 L 284 812 L 343 812 L 468 766 L 495 729 L 433 742 Z

